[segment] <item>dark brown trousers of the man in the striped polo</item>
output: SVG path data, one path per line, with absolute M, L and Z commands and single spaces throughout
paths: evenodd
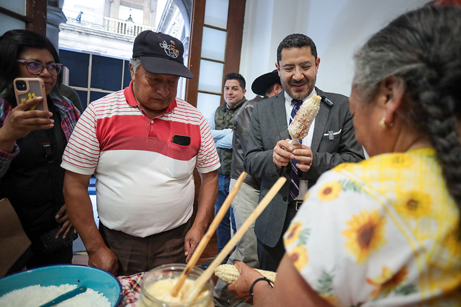
M 112 230 L 99 222 L 99 232 L 118 258 L 117 275 L 132 275 L 165 264 L 185 264 L 184 238 L 192 221 L 144 238 Z

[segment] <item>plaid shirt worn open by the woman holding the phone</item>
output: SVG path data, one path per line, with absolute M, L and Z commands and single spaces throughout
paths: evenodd
M 80 112 L 67 98 L 62 101 L 52 97 L 52 101 L 59 112 L 59 117 L 61 118 L 61 129 L 64 132 L 66 139 L 69 141 L 75 124 L 80 118 Z M 2 128 L 5 124 L 5 121 L 10 116 L 12 109 L 13 107 L 11 104 L 9 104 L 5 99 L 0 98 L 0 128 Z M 11 161 L 18 155 L 18 153 L 19 147 L 16 143 L 14 143 L 12 153 L 5 152 L 0 149 L 0 178 L 6 173 Z

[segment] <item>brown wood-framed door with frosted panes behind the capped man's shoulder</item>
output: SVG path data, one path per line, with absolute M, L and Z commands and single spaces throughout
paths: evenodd
M 245 0 L 196 0 L 192 14 L 186 101 L 208 119 L 224 103 L 225 75 L 239 72 Z

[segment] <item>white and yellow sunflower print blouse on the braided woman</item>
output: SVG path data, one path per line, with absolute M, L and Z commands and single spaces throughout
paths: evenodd
M 284 235 L 334 306 L 461 306 L 459 212 L 431 148 L 325 172 Z

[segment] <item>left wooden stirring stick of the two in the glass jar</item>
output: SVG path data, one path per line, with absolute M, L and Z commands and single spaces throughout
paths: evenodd
M 209 225 L 208 230 L 206 231 L 206 233 L 203 235 L 202 239 L 200 240 L 200 243 L 195 249 L 194 254 L 192 254 L 191 259 L 189 260 L 189 262 L 187 262 L 187 265 L 184 268 L 184 271 L 182 271 L 181 276 L 179 276 L 178 282 L 176 282 L 175 287 L 173 287 L 173 290 L 171 291 L 171 295 L 173 297 L 176 297 L 178 295 L 179 290 L 184 284 L 184 281 L 186 280 L 189 273 L 191 273 L 191 270 L 197 263 L 197 260 L 203 253 L 203 250 L 208 244 L 209 239 L 211 239 L 212 235 L 216 231 L 216 228 L 218 228 L 219 223 L 221 223 L 221 220 L 223 219 L 224 215 L 229 209 L 229 206 L 231 206 L 231 203 L 234 200 L 235 195 L 237 194 L 237 191 L 240 189 L 240 186 L 242 185 L 243 180 L 245 179 L 246 175 L 247 175 L 246 172 L 242 172 L 240 174 L 234 187 L 227 195 L 224 203 L 222 203 L 222 206 L 219 209 L 218 213 L 216 214 L 215 218 L 213 219 L 213 222 Z

